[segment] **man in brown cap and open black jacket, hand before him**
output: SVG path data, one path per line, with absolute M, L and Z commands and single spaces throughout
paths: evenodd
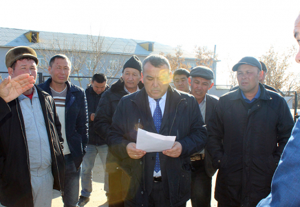
M 51 206 L 52 189 L 63 193 L 65 161 L 61 123 L 52 97 L 32 84 L 38 63 L 32 48 L 12 48 L 6 54 L 12 79 L 8 77 L 0 84 L 0 202 L 3 206 Z M 30 85 L 20 90 L 26 79 Z

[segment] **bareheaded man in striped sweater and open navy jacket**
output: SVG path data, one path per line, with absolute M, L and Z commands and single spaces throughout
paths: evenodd
M 65 55 L 54 55 L 50 59 L 48 72 L 51 77 L 39 86 L 52 95 L 61 121 L 61 133 L 65 140 L 65 207 L 76 206 L 79 194 L 81 162 L 87 150 L 88 124 L 87 100 L 83 88 L 67 81 L 71 61 Z

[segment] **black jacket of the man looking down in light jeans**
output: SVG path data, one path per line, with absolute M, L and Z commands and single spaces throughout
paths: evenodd
M 105 91 L 108 89 L 109 86 L 107 85 L 105 87 Z M 96 134 L 94 129 L 94 121 L 91 120 L 91 115 L 96 112 L 100 98 L 105 91 L 98 95 L 93 90 L 92 85 L 87 86 L 87 89 L 85 89 L 85 95 L 87 96 L 87 110 L 89 110 L 89 144 L 96 146 L 104 145 L 106 144 L 106 141 L 101 139 L 100 136 Z

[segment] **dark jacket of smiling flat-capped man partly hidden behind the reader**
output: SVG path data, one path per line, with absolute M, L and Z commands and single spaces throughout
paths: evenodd
M 219 100 L 219 97 L 208 95 L 206 94 L 206 110 L 205 110 L 205 123 L 208 122 L 208 120 L 211 118 L 211 115 L 213 114 L 213 110 L 215 109 L 215 105 L 217 105 L 217 101 Z M 208 175 L 208 177 L 213 177 L 215 175 L 215 168 L 213 168 L 213 159 L 211 155 L 209 154 L 208 150 L 204 148 L 204 164 L 205 164 L 205 172 Z

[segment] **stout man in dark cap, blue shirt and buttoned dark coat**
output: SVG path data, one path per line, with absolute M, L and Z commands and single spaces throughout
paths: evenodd
M 254 57 L 235 66 L 239 89 L 219 98 L 208 121 L 206 148 L 219 169 L 218 206 L 256 206 L 270 193 L 272 176 L 294 126 L 288 104 L 259 83 Z

